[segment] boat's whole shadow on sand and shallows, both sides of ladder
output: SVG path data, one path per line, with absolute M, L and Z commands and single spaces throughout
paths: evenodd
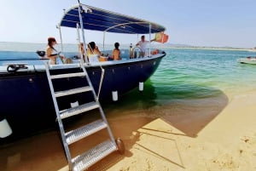
M 148 81 L 143 92 L 135 89 L 117 102 L 102 105 L 114 137 L 124 141 L 125 154 L 114 152 L 102 161 L 96 162 L 88 170 L 107 170 L 125 158 L 136 156 L 136 151 L 143 151 L 178 168 L 185 168 L 174 136 L 195 138 L 227 104 L 228 97 L 216 88 L 195 85 L 168 85 L 165 88 Z M 72 129 L 84 121 L 90 123 L 94 119 L 92 115 L 86 114 L 69 127 Z M 172 128 L 166 129 L 165 125 Z M 152 140 L 151 145 L 143 143 L 145 136 L 148 137 L 147 140 Z M 99 134 L 92 134 L 84 140 L 79 140 L 71 145 L 72 155 L 76 156 L 79 151 L 86 151 L 107 138 L 108 133 L 103 129 Z M 177 152 L 170 155 L 176 157 L 168 157 L 156 149 L 154 143 L 158 140 L 160 143 L 161 140 L 165 140 L 167 146 L 174 145 Z M 57 131 L 20 140 L 0 149 L 0 153 L 0 165 L 3 166 L 3 170 L 68 170 Z M 127 167 L 129 168 L 129 163 Z

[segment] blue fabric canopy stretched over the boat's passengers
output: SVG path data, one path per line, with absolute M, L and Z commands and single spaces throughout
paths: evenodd
M 156 23 L 140 20 L 124 14 L 113 13 L 104 9 L 97 9 L 81 4 L 84 29 L 93 31 L 108 31 L 126 34 L 148 34 L 165 31 L 164 26 Z M 79 20 L 79 5 L 67 9 L 61 19 L 60 26 L 76 28 Z

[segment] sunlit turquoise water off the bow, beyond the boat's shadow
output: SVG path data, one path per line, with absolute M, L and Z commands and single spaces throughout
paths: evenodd
M 207 88 L 217 88 L 226 94 L 254 88 L 256 66 L 237 62 L 239 58 L 256 56 L 248 51 L 173 49 L 151 78 L 160 89 L 169 89 L 174 96 L 184 98 L 212 95 Z M 157 84 L 158 83 L 158 84 Z M 199 88 L 199 89 L 198 89 Z M 193 94 L 191 94 L 193 92 Z

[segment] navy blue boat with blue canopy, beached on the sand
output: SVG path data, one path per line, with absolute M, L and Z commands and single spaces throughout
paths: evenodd
M 79 13 L 80 11 L 80 13 Z M 79 16 L 84 19 L 81 22 Z M 74 5 L 65 10 L 59 29 L 71 27 L 78 30 L 78 44 L 85 42 L 84 31 L 103 31 L 123 34 L 158 34 L 166 31 L 148 20 L 141 20 L 124 14 L 113 13 L 104 9 L 97 9 L 88 5 Z M 166 36 L 166 35 L 165 35 Z M 81 38 L 82 37 L 82 38 Z M 166 39 L 166 37 L 165 37 Z M 62 44 L 62 42 L 61 42 Z M 104 46 L 104 43 L 103 43 Z M 118 100 L 123 94 L 139 87 L 143 90 L 143 83 L 154 74 L 160 66 L 160 61 L 166 56 L 165 51 L 155 49 L 149 45 L 145 57 L 137 57 L 140 48 L 127 48 L 122 51 L 122 60 L 89 61 L 79 53 L 68 56 L 72 64 L 50 66 L 56 74 L 78 71 L 84 65 L 93 88 L 101 102 Z M 64 50 L 62 50 L 64 52 Z M 105 53 L 105 52 L 104 52 Z M 108 53 L 108 51 L 106 51 Z M 41 52 L 38 54 L 43 55 Z M 35 53 L 35 55 L 37 55 Z M 41 133 L 49 128 L 55 128 L 55 106 L 53 104 L 44 58 L 33 63 L 29 60 L 1 61 L 0 66 L 0 144 Z M 84 77 L 73 77 L 56 81 L 57 88 L 79 87 Z M 75 85 L 74 85 L 75 84 Z M 91 97 L 80 97 L 79 94 L 65 97 L 60 104 L 63 108 L 74 102 L 85 103 Z

